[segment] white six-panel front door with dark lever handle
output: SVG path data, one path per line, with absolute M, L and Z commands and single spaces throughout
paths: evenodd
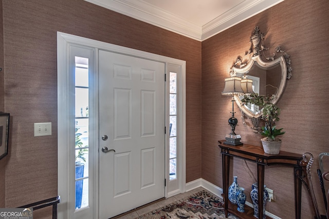
M 99 135 L 100 219 L 165 197 L 164 63 L 99 51 Z

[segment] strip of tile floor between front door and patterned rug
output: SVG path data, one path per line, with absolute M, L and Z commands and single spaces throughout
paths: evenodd
M 143 208 L 140 208 L 140 209 L 137 209 L 137 210 L 133 210 L 133 211 L 131 211 L 128 214 L 125 214 L 125 215 L 119 216 L 119 217 L 115 217 L 115 218 L 133 219 L 133 218 L 136 218 L 138 216 L 141 216 L 141 215 L 143 215 L 145 213 L 148 213 L 150 211 L 153 211 L 155 209 L 158 209 L 158 208 L 161 208 L 161 207 L 163 207 L 165 205 L 168 205 L 168 204 L 170 204 L 172 202 L 176 202 L 178 200 L 181 200 L 181 198 L 187 197 L 189 195 L 192 195 L 192 194 L 194 194 L 196 192 L 199 192 L 199 191 L 202 191 L 202 190 L 206 190 L 206 189 L 204 189 L 203 187 L 198 187 L 198 188 L 193 189 L 191 191 L 188 191 L 188 192 L 185 192 L 185 193 L 181 193 L 181 194 L 177 194 L 175 196 L 172 196 L 172 197 L 167 198 L 166 200 L 162 200 L 162 201 L 159 201 L 159 202 L 150 204 L 150 205 L 148 205 L 146 207 L 143 207 Z

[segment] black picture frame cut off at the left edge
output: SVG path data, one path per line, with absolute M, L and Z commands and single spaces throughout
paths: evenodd
M 8 154 L 9 113 L 0 112 L 0 160 Z

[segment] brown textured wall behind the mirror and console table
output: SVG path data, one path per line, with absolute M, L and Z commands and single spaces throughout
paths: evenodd
M 281 150 L 314 155 L 312 177 L 320 213 L 324 214 L 316 170 L 319 153 L 328 152 L 325 138 L 329 128 L 329 71 L 325 64 L 329 59 L 328 8 L 326 0 L 284 1 L 202 43 L 202 178 L 223 188 L 222 157 L 217 141 L 230 131 L 227 121 L 232 108 L 230 98 L 221 95 L 224 78 L 229 76 L 235 58 L 249 49 L 249 37 L 254 27 L 259 26 L 265 33 L 265 46 L 272 49 L 270 52 L 275 46 L 283 45 L 290 54 L 293 77 L 287 81 L 278 103 L 281 120 L 277 125 L 286 131 Z M 244 127 L 240 111 L 235 111 L 239 120 L 236 133 L 242 135 L 242 142 L 261 145 L 261 136 Z M 247 122 L 250 125 L 250 120 Z M 255 165 L 239 159 L 234 159 L 232 165 L 231 182 L 233 174 L 237 175 L 239 185 L 246 188 L 246 193 L 250 192 L 257 177 Z M 275 201 L 268 203 L 266 209 L 282 218 L 294 218 L 293 170 L 265 168 L 265 184 L 275 195 Z M 302 218 L 313 218 L 305 187 L 302 197 Z

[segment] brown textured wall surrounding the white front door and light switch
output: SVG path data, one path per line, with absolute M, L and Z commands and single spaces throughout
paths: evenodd
M 11 115 L 9 155 L 0 163 L 6 207 L 57 195 L 57 31 L 186 61 L 186 178 L 201 177 L 201 42 L 83 0 L 2 2 L 5 110 Z M 37 122 L 51 122 L 52 135 L 33 137 Z

